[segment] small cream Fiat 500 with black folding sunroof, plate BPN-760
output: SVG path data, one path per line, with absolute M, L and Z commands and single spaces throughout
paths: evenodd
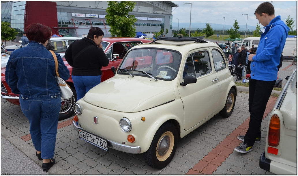
M 237 87 L 221 48 L 203 38 L 159 37 L 132 47 L 114 77 L 74 105 L 79 138 L 106 151 L 144 153 L 162 169 L 179 137 L 218 113 L 229 117 Z

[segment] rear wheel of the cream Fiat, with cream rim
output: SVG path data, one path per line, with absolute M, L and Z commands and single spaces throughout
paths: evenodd
M 228 97 L 226 98 L 226 104 L 224 108 L 221 110 L 221 112 L 219 112 L 219 114 L 224 118 L 229 117 L 234 110 L 235 101 L 236 101 L 236 91 L 235 89 L 232 88 L 228 94 Z

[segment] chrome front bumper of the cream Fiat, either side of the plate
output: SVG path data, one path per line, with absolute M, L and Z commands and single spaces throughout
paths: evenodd
M 77 130 L 77 128 L 80 127 L 80 125 L 77 125 L 77 123 L 75 121 L 72 122 L 72 126 L 75 130 Z M 82 127 L 80 127 L 80 128 L 82 128 Z M 117 143 L 117 142 L 114 142 L 114 141 L 111 141 L 111 140 L 107 140 L 107 141 L 108 141 L 108 147 L 110 147 L 112 149 L 115 149 L 115 150 L 119 150 L 121 152 L 133 153 L 133 154 L 138 154 L 138 153 L 141 152 L 141 147 L 140 146 L 129 146 L 129 145 L 125 145 L 125 144 L 122 144 L 122 143 Z

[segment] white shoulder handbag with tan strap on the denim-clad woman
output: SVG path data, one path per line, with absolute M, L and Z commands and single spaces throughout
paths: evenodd
M 58 73 L 58 61 L 57 61 L 56 54 L 55 54 L 54 51 L 51 51 L 50 50 L 50 52 L 52 53 L 52 55 L 54 57 L 54 60 L 55 60 L 56 82 L 59 85 L 60 95 L 61 95 L 62 98 L 69 99 L 69 98 L 72 97 L 73 92 L 70 89 L 69 85 L 66 84 L 66 82 L 62 78 L 59 77 L 59 73 Z

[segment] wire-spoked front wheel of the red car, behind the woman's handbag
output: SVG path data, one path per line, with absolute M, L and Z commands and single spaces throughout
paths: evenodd
M 75 88 L 70 87 L 74 95 L 72 95 L 71 98 L 65 99 L 61 98 L 61 108 L 59 112 L 59 121 L 64 120 L 66 118 L 70 118 L 74 114 L 73 105 L 75 104 L 77 100 L 77 92 L 75 91 Z

